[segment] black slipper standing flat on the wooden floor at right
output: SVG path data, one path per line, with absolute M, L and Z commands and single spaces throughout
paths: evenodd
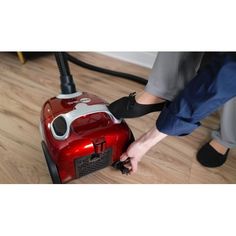
M 226 162 L 229 150 L 228 148 L 225 154 L 221 154 L 207 143 L 198 151 L 197 160 L 206 167 L 219 167 Z

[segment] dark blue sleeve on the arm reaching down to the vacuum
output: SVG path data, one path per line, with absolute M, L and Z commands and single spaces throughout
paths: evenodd
M 163 109 L 157 129 L 168 135 L 189 134 L 202 119 L 235 96 L 235 53 L 217 53 Z

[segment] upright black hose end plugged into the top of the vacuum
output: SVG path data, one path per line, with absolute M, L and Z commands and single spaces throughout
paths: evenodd
M 56 52 L 55 58 L 60 72 L 61 92 L 62 94 L 71 94 L 76 92 L 73 77 L 70 73 L 67 55 L 64 52 Z

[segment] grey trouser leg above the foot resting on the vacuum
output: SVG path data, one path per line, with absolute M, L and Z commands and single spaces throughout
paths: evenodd
M 172 101 L 196 75 L 202 52 L 159 52 L 145 91 Z

